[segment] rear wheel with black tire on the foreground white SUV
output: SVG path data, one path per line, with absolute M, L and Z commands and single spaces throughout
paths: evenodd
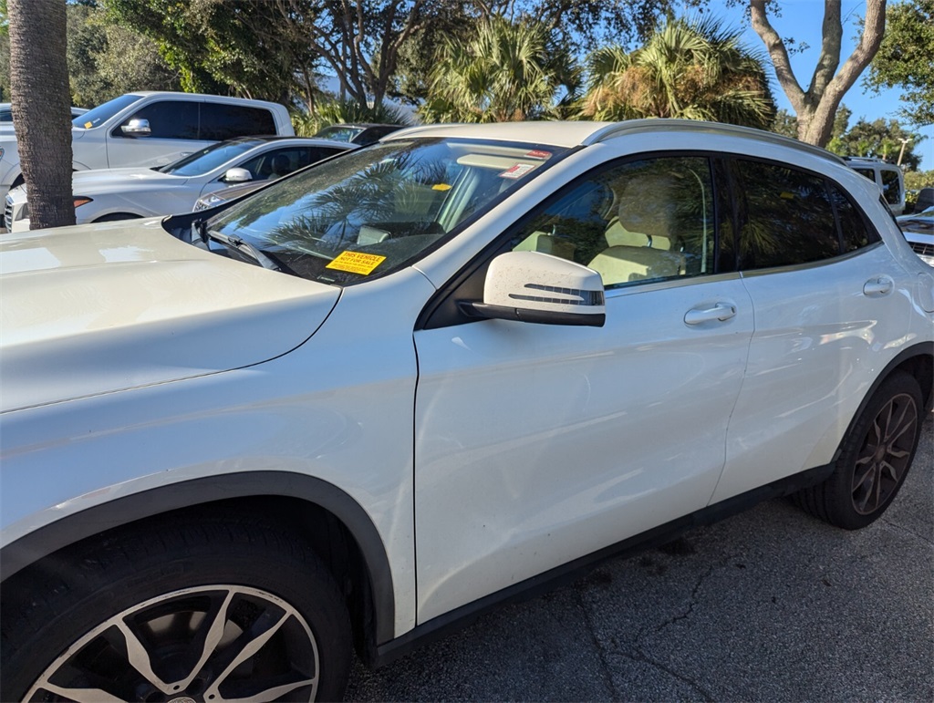
M 815 517 L 845 529 L 866 527 L 896 497 L 911 468 L 924 403 L 918 382 L 893 373 L 870 399 L 841 444 L 828 479 L 796 493 L 795 502 Z

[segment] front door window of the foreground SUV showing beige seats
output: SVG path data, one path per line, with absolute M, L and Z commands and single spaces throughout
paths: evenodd
M 579 182 L 520 229 L 513 249 L 576 261 L 606 288 L 711 274 L 714 213 L 706 158 L 644 159 Z

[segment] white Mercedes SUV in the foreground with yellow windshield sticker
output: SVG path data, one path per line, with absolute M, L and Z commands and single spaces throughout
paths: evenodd
M 725 125 L 407 129 L 0 271 L 5 701 L 333 699 L 762 499 L 863 527 L 934 395 L 876 186 Z

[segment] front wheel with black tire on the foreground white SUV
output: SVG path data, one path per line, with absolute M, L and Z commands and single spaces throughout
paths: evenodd
M 4 701 L 71 700 L 75 688 L 120 700 L 338 700 L 347 684 L 350 625 L 331 574 L 257 520 L 113 531 L 7 580 L 2 598 Z

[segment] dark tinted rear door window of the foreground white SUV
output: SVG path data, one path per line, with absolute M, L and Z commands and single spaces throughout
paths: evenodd
M 839 256 L 840 236 L 824 178 L 772 163 L 735 162 L 743 270 Z

